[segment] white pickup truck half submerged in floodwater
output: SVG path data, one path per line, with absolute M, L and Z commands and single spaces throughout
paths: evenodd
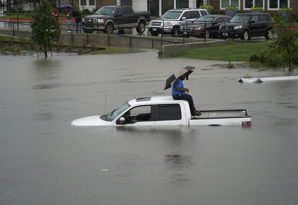
M 167 125 L 243 125 L 251 126 L 246 109 L 203 110 L 192 117 L 186 100 L 172 96 L 135 98 L 105 115 L 83 117 L 71 122 L 75 126 L 167 126 Z

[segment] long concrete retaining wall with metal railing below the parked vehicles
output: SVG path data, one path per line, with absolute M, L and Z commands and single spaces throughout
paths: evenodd
M 0 35 L 31 38 L 31 31 L 0 29 Z M 162 39 L 162 41 L 161 41 Z M 77 45 L 94 45 L 100 47 L 128 47 L 142 49 L 159 49 L 159 57 L 170 57 L 185 49 L 197 47 L 209 47 L 219 44 L 226 44 L 224 40 L 206 40 L 196 38 L 167 38 L 155 36 L 126 36 L 107 34 L 87 34 L 87 33 L 61 33 L 61 41 Z M 235 40 L 237 41 L 237 40 Z M 243 41 L 242 41 L 243 42 Z M 263 41 L 246 41 L 249 43 Z

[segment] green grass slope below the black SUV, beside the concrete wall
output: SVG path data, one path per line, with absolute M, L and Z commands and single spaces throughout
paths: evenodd
M 183 50 L 175 54 L 174 57 L 198 60 L 247 62 L 251 55 L 261 53 L 269 43 L 270 42 L 235 44 L 234 42 L 231 42 L 231 45 Z

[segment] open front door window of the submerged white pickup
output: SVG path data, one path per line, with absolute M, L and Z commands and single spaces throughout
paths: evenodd
M 124 113 L 126 124 L 151 121 L 151 105 L 138 106 Z

